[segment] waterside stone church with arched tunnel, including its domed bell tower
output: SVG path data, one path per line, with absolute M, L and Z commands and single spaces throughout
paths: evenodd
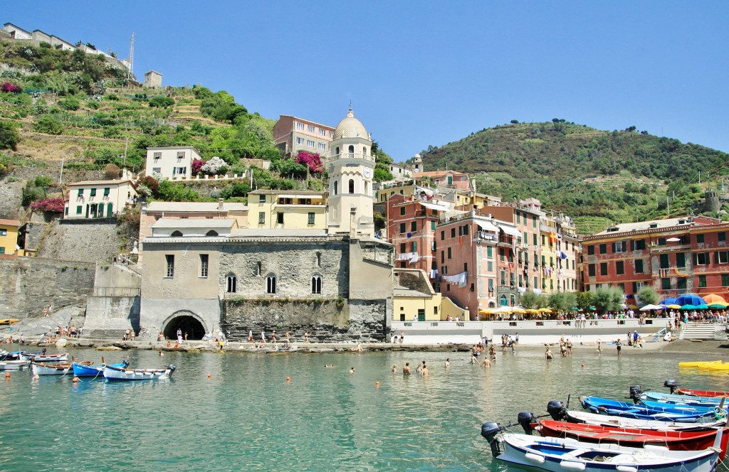
M 246 339 L 249 330 L 335 342 L 384 339 L 393 247 L 374 237 L 372 141 L 351 109 L 325 164 L 327 229 L 240 227 L 235 219 L 165 219 L 141 244 L 140 337 L 176 331 Z

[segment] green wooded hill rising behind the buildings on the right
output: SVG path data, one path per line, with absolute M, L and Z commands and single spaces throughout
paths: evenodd
M 690 213 L 729 172 L 724 152 L 635 127 L 610 132 L 559 119 L 484 129 L 421 154 L 426 170 L 471 173 L 480 192 L 537 197 L 545 209 L 574 216 L 585 234 L 609 221 L 665 217 L 666 197 L 672 216 Z

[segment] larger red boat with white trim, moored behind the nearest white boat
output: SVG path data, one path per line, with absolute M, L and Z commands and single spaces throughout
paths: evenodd
M 727 452 L 729 434 L 726 428 L 712 428 L 701 431 L 650 430 L 621 428 L 619 426 L 588 425 L 554 420 L 539 420 L 537 433 L 553 438 L 572 438 L 588 443 L 613 443 L 627 447 L 665 446 L 672 451 L 695 451 L 716 447 L 720 459 Z

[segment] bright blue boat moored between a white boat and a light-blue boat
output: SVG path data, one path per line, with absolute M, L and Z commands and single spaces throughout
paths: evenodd
M 719 417 L 726 417 L 725 410 L 721 408 L 677 406 L 651 401 L 647 404 L 628 404 L 623 401 L 593 396 L 582 397 L 580 401 L 582 402 L 582 408 L 590 410 L 591 413 L 636 418 L 637 420 L 711 422 Z

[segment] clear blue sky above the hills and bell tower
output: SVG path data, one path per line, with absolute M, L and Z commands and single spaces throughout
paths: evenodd
M 1 23 L 90 42 L 163 84 L 336 126 L 381 148 L 554 117 L 729 152 L 729 1 L 12 1 Z

